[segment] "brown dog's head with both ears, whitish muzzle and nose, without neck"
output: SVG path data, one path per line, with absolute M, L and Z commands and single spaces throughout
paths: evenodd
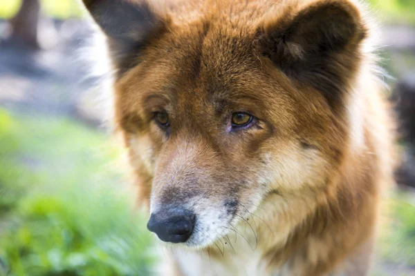
M 115 123 L 148 228 L 165 242 L 211 246 L 271 195 L 275 216 L 293 198 L 317 204 L 350 143 L 366 34 L 357 8 L 231 2 L 183 2 L 183 14 L 180 3 L 84 0 L 117 70 Z

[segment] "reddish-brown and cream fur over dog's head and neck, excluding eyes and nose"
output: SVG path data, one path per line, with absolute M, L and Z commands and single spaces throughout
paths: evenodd
M 101 26 L 91 3 L 108 1 L 86 1 Z M 371 27 L 357 4 L 124 3 L 151 14 L 126 31 L 129 39 L 102 26 L 113 52 L 130 43 L 112 55 L 114 121 L 139 200 L 152 210 L 187 204 L 207 212 L 201 220 L 229 228 L 216 237 L 202 225 L 204 238 L 187 244 L 207 262 L 183 262 L 174 248 L 178 273 L 206 275 L 209 267 L 212 275 L 238 275 L 255 257 L 226 236 L 250 219 L 257 229 L 245 238 L 258 239 L 259 256 L 251 273 L 366 275 L 378 202 L 393 183 L 394 135 L 374 57 L 364 50 Z M 154 123 L 160 110 L 172 122 L 167 134 Z M 257 124 L 228 132 L 237 111 Z M 210 217 L 208 210 L 223 217 L 226 208 L 237 214 L 229 223 Z M 226 243 L 228 255 L 215 242 Z

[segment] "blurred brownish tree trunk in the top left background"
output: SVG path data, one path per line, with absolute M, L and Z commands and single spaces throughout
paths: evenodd
M 23 0 L 19 12 L 10 21 L 11 39 L 24 43 L 30 48 L 39 49 L 39 41 L 37 40 L 39 14 L 39 0 Z

